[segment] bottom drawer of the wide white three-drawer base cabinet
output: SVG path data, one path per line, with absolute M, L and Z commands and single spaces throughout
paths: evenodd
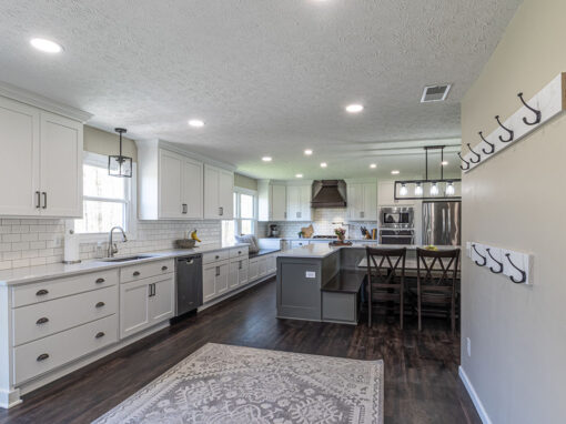
M 13 349 L 13 384 L 64 365 L 118 341 L 118 316 L 110 315 Z

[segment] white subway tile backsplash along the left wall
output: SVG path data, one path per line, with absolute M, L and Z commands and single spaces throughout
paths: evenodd
M 0 220 L 0 270 L 46 265 L 63 261 L 64 220 Z M 174 248 L 185 231 L 196 229 L 202 244 L 221 242 L 219 221 L 142 221 L 138 222 L 135 240 L 118 242 L 119 254 L 135 254 Z M 114 234 L 119 241 L 120 235 Z M 97 258 L 98 242 L 81 243 L 82 260 Z M 102 242 L 105 252 L 108 243 Z

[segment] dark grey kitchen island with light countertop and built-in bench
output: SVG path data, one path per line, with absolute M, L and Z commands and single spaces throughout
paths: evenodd
M 316 243 L 283 251 L 277 258 L 277 317 L 357 324 L 367 246 L 407 248 L 406 267 L 416 269 L 416 245 L 370 241 L 350 246 Z

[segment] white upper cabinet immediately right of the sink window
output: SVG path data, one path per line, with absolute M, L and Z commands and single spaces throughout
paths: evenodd
M 162 149 L 158 141 L 138 142 L 141 220 L 203 218 L 203 163 Z

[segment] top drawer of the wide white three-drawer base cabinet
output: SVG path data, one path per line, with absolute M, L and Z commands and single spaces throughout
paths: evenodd
M 12 305 L 13 307 L 31 305 L 90 290 L 109 287 L 114 284 L 118 284 L 118 270 L 19 285 L 12 289 Z

